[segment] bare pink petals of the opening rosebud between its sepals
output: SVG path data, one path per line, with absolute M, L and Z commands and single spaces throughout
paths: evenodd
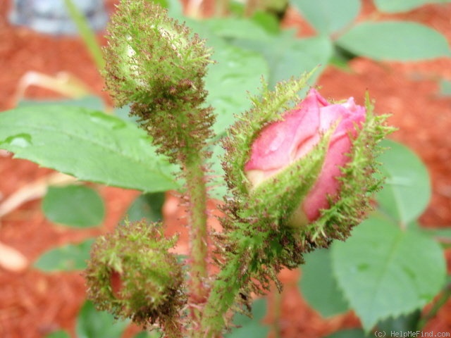
M 316 182 L 294 213 L 291 223 L 302 225 L 316 220 L 321 209 L 329 207 L 328 196 L 338 196 L 340 168 L 351 160 L 352 139 L 357 136 L 365 115 L 366 109 L 355 104 L 353 98 L 342 104 L 329 104 L 311 89 L 295 109 L 283 114 L 283 120 L 261 130 L 245 164 L 248 180 L 257 187 L 309 154 L 324 133 L 335 128 Z

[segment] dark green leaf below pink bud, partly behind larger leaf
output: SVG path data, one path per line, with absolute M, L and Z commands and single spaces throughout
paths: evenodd
M 299 288 L 302 296 L 323 317 L 349 309 L 332 274 L 330 250 L 319 249 L 305 255 Z

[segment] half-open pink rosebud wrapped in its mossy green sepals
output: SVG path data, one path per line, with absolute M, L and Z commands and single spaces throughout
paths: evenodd
M 330 104 L 311 89 L 298 99 L 308 76 L 253 99 L 223 142 L 233 219 L 257 231 L 283 228 L 293 255 L 345 239 L 366 217 L 381 186 L 378 142 L 393 132 L 368 98 Z

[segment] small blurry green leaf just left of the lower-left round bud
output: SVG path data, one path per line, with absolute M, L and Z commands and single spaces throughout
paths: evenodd
M 94 239 L 86 239 L 80 244 L 66 244 L 44 252 L 35 262 L 35 268 L 46 272 L 83 270 L 89 259 L 89 251 Z

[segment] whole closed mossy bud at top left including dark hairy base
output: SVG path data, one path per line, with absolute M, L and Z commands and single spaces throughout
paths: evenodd
M 171 161 L 189 161 L 211 137 L 214 123 L 204 104 L 211 51 L 147 0 L 121 1 L 108 33 L 104 75 L 116 105 L 131 105 L 130 114 Z

